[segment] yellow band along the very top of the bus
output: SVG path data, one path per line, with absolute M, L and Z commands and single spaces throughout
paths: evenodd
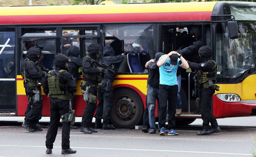
M 0 7 L 6 15 L 66 15 L 212 11 L 217 2 Z

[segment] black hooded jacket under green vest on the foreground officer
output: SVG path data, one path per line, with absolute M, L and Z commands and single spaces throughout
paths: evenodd
M 61 53 L 57 53 L 55 55 L 55 57 L 54 57 L 55 69 L 54 70 L 56 70 L 57 73 L 59 73 L 59 71 L 61 69 L 67 70 L 67 68 L 65 66 L 66 62 L 67 62 L 67 59 L 68 59 L 68 57 L 63 55 L 63 54 L 61 54 Z M 51 75 L 56 75 L 53 70 L 51 71 Z M 66 92 L 66 88 L 71 93 L 74 93 L 74 92 L 77 91 L 76 83 L 74 82 L 72 75 L 69 72 L 67 72 L 67 71 L 62 72 L 59 75 L 59 83 L 65 85 L 64 87 L 60 86 L 60 89 L 62 91 Z M 49 93 L 48 74 L 45 77 L 43 88 L 44 88 L 44 93 L 46 95 L 48 95 L 48 93 Z

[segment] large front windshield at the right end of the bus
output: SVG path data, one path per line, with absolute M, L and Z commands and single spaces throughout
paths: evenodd
M 255 73 L 255 23 L 239 23 L 237 39 L 230 39 L 222 23 L 216 33 L 216 62 L 218 83 L 239 83 L 244 74 Z

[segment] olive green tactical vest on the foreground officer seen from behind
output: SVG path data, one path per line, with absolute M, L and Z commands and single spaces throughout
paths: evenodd
M 49 93 L 48 98 L 58 98 L 62 100 L 69 100 L 72 96 L 72 93 L 66 90 L 62 91 L 60 86 L 64 87 L 64 84 L 59 83 L 59 75 L 66 70 L 60 70 L 58 75 L 51 75 L 51 71 L 48 72 L 48 86 L 49 86 Z M 55 73 L 54 73 L 55 74 Z M 67 88 L 67 87 L 66 87 Z

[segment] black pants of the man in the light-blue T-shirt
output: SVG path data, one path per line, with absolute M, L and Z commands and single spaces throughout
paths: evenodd
M 168 130 L 175 128 L 175 113 L 178 85 L 168 86 L 159 84 L 159 127 L 165 127 L 166 109 L 168 104 Z M 167 103 L 168 101 L 168 103 Z

